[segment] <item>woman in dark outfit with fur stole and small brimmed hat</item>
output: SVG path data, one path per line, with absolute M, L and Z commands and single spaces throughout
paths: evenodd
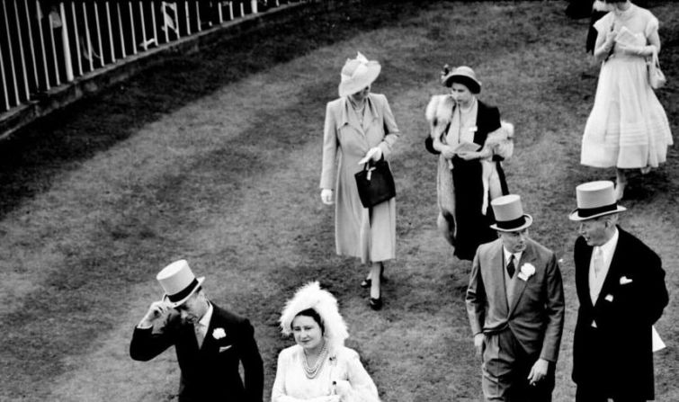
M 500 161 L 512 155 L 514 127 L 477 99 L 481 83 L 471 68 L 446 67 L 442 84 L 451 94 L 434 95 L 426 109 L 425 146 L 439 155 L 437 224 L 454 254 L 472 260 L 479 245 L 496 239 L 488 202 L 509 193 Z

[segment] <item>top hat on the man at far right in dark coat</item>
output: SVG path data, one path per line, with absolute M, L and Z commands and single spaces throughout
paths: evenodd
M 608 180 L 578 185 L 576 201 L 576 210 L 568 216 L 570 220 L 594 219 L 627 210 L 615 201 L 615 188 Z

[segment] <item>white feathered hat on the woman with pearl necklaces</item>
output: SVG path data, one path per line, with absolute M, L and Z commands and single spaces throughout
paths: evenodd
M 299 312 L 313 308 L 325 327 L 324 336 L 331 348 L 344 346 L 349 337 L 344 318 L 337 308 L 337 299 L 329 291 L 323 290 L 317 281 L 308 282 L 299 288 L 292 299 L 285 303 L 281 313 L 281 331 L 284 335 L 292 333 L 292 320 Z

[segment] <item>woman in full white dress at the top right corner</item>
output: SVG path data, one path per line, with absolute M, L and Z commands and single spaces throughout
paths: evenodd
M 647 58 L 660 51 L 657 18 L 629 0 L 606 0 L 613 10 L 594 23 L 594 58 L 603 62 L 582 140 L 580 163 L 615 166 L 616 197 L 622 198 L 624 169 L 666 161 L 672 134 L 666 112 L 648 82 Z

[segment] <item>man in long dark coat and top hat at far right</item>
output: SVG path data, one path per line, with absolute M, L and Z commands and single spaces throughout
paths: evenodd
M 577 402 L 654 398 L 652 326 L 668 303 L 660 258 L 618 226 L 613 183 L 576 187 Z

